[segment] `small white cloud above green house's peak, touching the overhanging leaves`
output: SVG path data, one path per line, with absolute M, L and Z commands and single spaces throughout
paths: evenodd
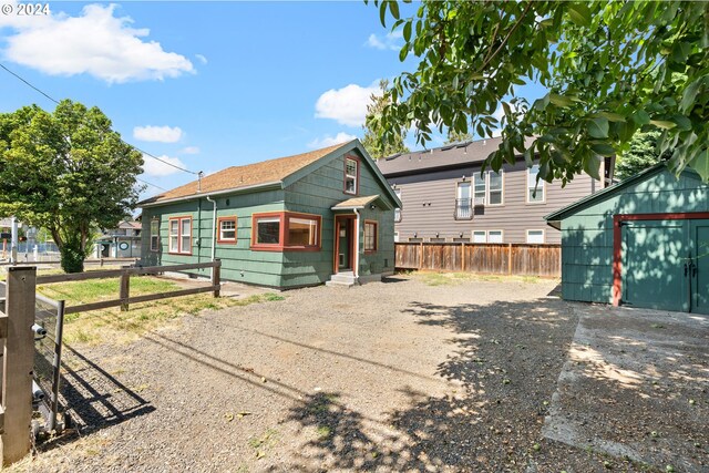
M 367 116 L 367 105 L 370 95 L 379 92 L 379 81 L 362 88 L 349 84 L 342 89 L 330 89 L 325 92 L 315 104 L 315 116 L 331 119 L 347 126 L 361 126 Z

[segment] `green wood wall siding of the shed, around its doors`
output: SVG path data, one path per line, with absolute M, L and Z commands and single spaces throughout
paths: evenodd
M 680 212 L 709 212 L 709 186 L 691 172 L 676 178 L 662 169 L 565 217 L 562 297 L 612 301 L 614 215 Z

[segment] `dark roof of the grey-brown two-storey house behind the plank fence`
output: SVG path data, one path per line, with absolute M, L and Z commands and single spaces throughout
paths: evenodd
M 528 138 L 527 146 L 533 138 Z M 465 167 L 481 164 L 491 153 L 497 150 L 502 137 L 452 143 L 431 150 L 394 154 L 377 161 L 377 166 L 387 177 L 419 174 L 429 171 L 453 167 Z M 520 156 L 522 156 L 520 154 Z

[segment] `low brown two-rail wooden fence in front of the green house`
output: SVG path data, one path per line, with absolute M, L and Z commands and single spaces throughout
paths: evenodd
M 131 276 L 157 275 L 168 271 L 186 271 L 188 269 L 212 268 L 212 284 L 204 287 L 179 289 L 168 292 L 147 294 L 144 296 L 131 297 Z M 199 292 L 214 292 L 214 297 L 219 297 L 222 261 L 216 259 L 208 263 L 195 263 L 192 265 L 172 266 L 146 266 L 122 269 L 106 269 L 100 271 L 75 273 L 70 275 L 38 276 L 37 284 L 83 281 L 88 279 L 121 278 L 120 294 L 117 299 L 102 300 L 100 302 L 82 304 L 79 306 L 66 306 L 64 313 L 85 312 L 89 310 L 106 309 L 109 307 L 121 306 L 121 310 L 129 310 L 131 304 L 147 302 L 150 300 L 167 299 L 171 297 L 189 296 Z

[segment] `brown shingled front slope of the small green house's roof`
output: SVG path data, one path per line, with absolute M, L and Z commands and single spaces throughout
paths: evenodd
M 347 144 L 348 143 L 340 143 L 335 146 L 328 146 L 310 151 L 308 153 L 263 161 L 260 163 L 247 164 L 245 166 L 227 167 L 224 171 L 203 177 L 201 192 L 197 192 L 197 181 L 193 181 L 172 191 L 167 191 L 163 194 L 145 199 L 138 203 L 138 205 L 174 200 L 197 194 L 205 195 L 219 191 L 238 189 L 240 187 L 254 187 L 260 184 L 277 183 L 304 168 L 308 164 L 315 163 L 321 157 Z

